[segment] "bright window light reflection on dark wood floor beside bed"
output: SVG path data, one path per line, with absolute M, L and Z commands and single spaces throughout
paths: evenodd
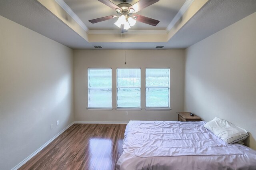
M 91 138 L 89 141 L 90 169 L 111 170 L 112 165 L 112 140 Z

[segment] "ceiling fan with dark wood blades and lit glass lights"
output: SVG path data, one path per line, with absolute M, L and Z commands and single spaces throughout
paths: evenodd
M 127 32 L 128 29 L 131 28 L 131 26 L 134 26 L 136 21 L 143 22 L 143 23 L 149 24 L 151 26 L 156 26 L 159 23 L 158 20 L 154 20 L 154 19 L 148 18 L 146 16 L 134 14 L 134 13 L 158 2 L 159 0 L 139 0 L 138 2 L 136 2 L 133 5 L 127 3 L 126 0 L 120 0 L 122 3 L 120 3 L 118 5 L 114 4 L 110 0 L 98 0 L 98 1 L 102 2 L 106 6 L 109 6 L 110 8 L 113 8 L 114 10 L 116 10 L 116 13 L 118 15 L 105 16 L 105 17 L 89 20 L 89 22 L 91 22 L 92 24 L 110 20 L 113 18 L 118 18 L 118 20 L 115 22 L 115 24 L 116 24 L 116 26 L 121 28 L 121 32 L 123 33 L 123 32 Z

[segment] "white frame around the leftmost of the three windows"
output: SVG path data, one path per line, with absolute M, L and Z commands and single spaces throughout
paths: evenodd
M 111 89 L 111 107 L 89 107 L 89 69 L 110 69 L 111 71 L 111 87 L 108 89 Z M 112 68 L 102 68 L 102 67 L 88 67 L 87 68 L 87 110 L 113 110 L 113 102 L 112 102 L 112 97 L 113 97 L 113 93 L 112 93 Z M 103 89 L 103 88 L 102 88 Z

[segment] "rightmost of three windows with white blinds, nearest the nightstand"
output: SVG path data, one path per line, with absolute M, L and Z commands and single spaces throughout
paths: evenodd
M 170 107 L 170 68 L 146 68 L 146 108 Z

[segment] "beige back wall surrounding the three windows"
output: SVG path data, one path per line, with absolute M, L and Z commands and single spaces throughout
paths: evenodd
M 112 68 L 111 111 L 86 110 L 88 101 L 88 67 Z M 116 110 L 116 68 L 141 68 L 140 111 Z M 170 111 L 145 111 L 145 68 L 170 67 Z M 130 120 L 177 120 L 176 112 L 183 110 L 184 103 L 184 50 L 74 50 L 74 113 L 75 121 L 128 122 Z

